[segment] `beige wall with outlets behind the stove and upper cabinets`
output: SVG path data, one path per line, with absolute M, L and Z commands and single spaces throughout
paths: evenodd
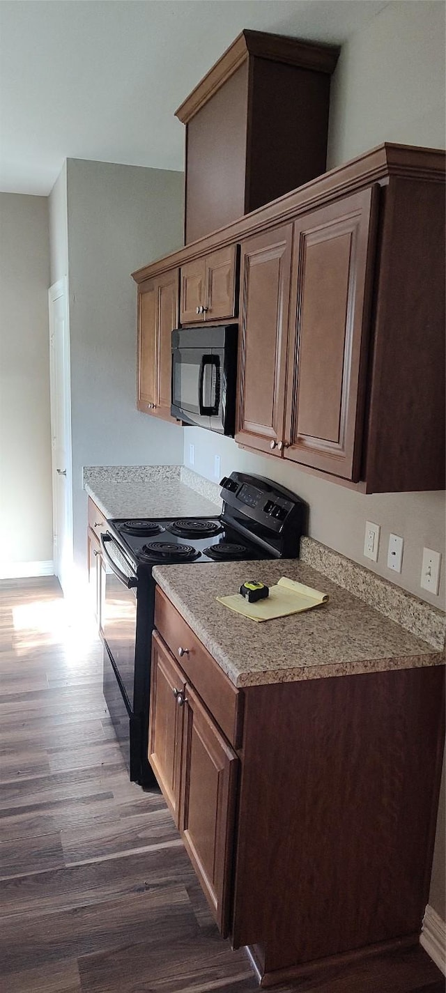
M 342 50 L 332 84 L 329 165 L 360 155 L 382 141 L 444 147 L 445 7 L 443 3 L 388 4 Z M 229 439 L 196 428 L 185 429 L 185 464 L 195 446 L 195 469 L 214 478 L 215 455 L 221 473 L 232 469 L 269 476 L 310 504 L 310 533 L 406 590 L 444 607 L 444 493 L 384 494 L 366 497 L 282 465 L 250 455 Z M 381 526 L 379 557 L 363 556 L 366 520 Z M 404 538 L 400 575 L 386 568 L 390 531 Z M 421 590 L 423 546 L 443 553 L 440 596 Z M 444 772 L 437 823 L 429 902 L 445 918 Z

